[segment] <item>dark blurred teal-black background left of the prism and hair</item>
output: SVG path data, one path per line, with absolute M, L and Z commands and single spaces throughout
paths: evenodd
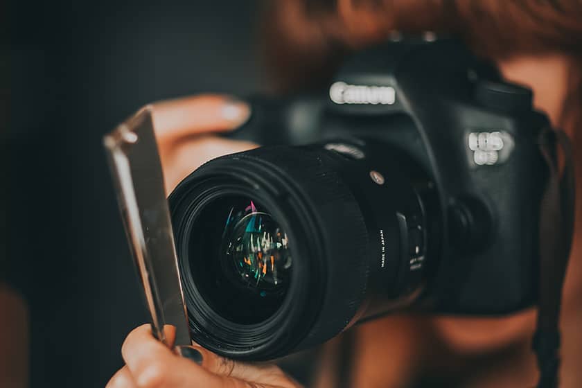
M 229 0 L 3 8 L 8 258 L 30 306 L 31 386 L 103 387 L 122 366 L 123 338 L 147 319 L 102 136 L 155 100 L 260 89 L 260 7 Z

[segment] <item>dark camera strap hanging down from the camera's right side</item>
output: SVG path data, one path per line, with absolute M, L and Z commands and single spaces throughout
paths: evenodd
M 555 145 L 563 152 L 560 164 Z M 563 131 L 545 131 L 540 150 L 549 166 L 549 180 L 540 209 L 539 306 L 532 348 L 536 352 L 540 378 L 538 388 L 558 386 L 560 367 L 560 308 L 562 288 L 572 247 L 575 217 L 575 178 L 572 143 Z

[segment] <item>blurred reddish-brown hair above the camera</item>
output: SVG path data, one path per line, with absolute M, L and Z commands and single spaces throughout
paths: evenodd
M 394 31 L 457 35 L 476 55 L 491 60 L 524 54 L 565 54 L 571 65 L 558 125 L 574 133 L 574 143 L 582 145 L 582 1 L 279 0 L 269 3 L 263 19 L 263 47 L 267 74 L 279 90 L 325 85 L 345 55 L 381 42 Z M 581 156 L 576 158 L 579 176 Z M 579 187 L 581 182 L 579 179 Z

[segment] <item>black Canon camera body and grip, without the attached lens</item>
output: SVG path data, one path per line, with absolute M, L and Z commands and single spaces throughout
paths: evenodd
M 235 136 L 259 144 L 366 139 L 405 152 L 439 193 L 436 310 L 495 315 L 530 306 L 547 182 L 539 138 L 549 128 L 531 91 L 504 82 L 453 40 L 358 53 L 329 94 L 308 106 L 254 105 L 259 112 Z M 293 122 L 301 114 L 312 115 L 308 130 Z

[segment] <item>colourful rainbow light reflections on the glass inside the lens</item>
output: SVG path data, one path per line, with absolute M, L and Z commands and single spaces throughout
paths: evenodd
M 287 233 L 254 202 L 232 207 L 222 233 L 224 254 L 236 277 L 259 290 L 261 297 L 281 289 L 290 279 L 292 258 Z

